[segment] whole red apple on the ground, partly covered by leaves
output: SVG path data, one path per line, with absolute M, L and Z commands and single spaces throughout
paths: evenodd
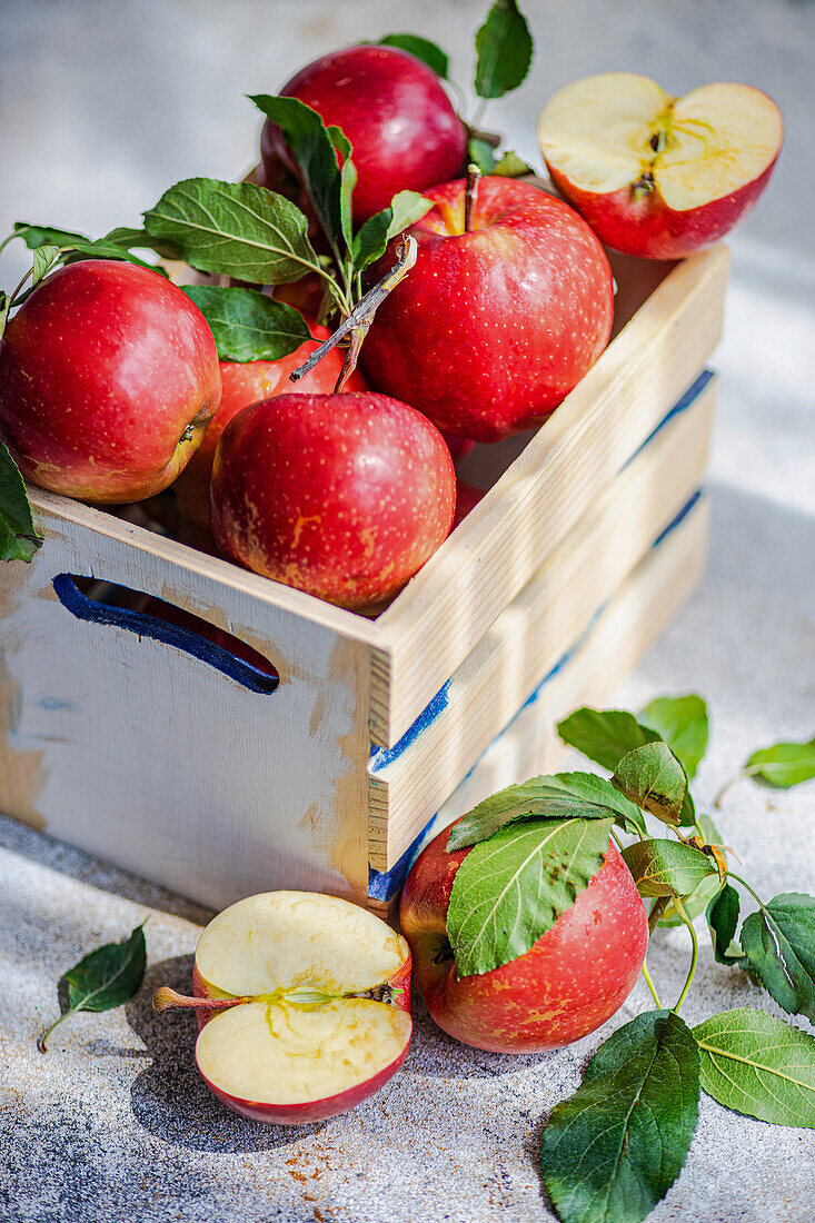
M 447 937 L 455 873 L 470 849 L 447 852 L 449 829 L 416 860 L 399 921 L 414 981 L 439 1027 L 496 1053 L 534 1053 L 579 1041 L 628 998 L 649 940 L 645 907 L 613 843 L 589 887 L 516 960 L 459 977 Z

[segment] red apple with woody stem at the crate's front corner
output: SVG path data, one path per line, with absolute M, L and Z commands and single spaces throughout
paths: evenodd
M 226 426 L 212 527 L 231 560 L 341 607 L 395 594 L 449 534 L 455 471 L 434 426 L 372 393 L 280 395 Z

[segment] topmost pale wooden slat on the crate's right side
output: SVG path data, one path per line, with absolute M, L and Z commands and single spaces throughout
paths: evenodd
M 693 380 L 720 336 L 728 263 L 716 247 L 666 276 L 379 616 L 374 742 L 396 742 Z

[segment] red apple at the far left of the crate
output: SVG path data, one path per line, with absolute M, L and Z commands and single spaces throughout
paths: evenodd
M 203 314 L 131 263 L 61 268 L 0 341 L 0 437 L 23 476 L 54 493 L 153 497 L 192 456 L 219 399 Z

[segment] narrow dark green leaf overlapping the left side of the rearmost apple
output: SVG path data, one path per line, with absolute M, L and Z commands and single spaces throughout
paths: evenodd
M 322 119 L 316 110 L 296 98 L 258 93 L 251 95 L 250 102 L 283 132 L 323 232 L 329 243 L 335 246 L 343 232 L 340 169 L 335 147 Z

